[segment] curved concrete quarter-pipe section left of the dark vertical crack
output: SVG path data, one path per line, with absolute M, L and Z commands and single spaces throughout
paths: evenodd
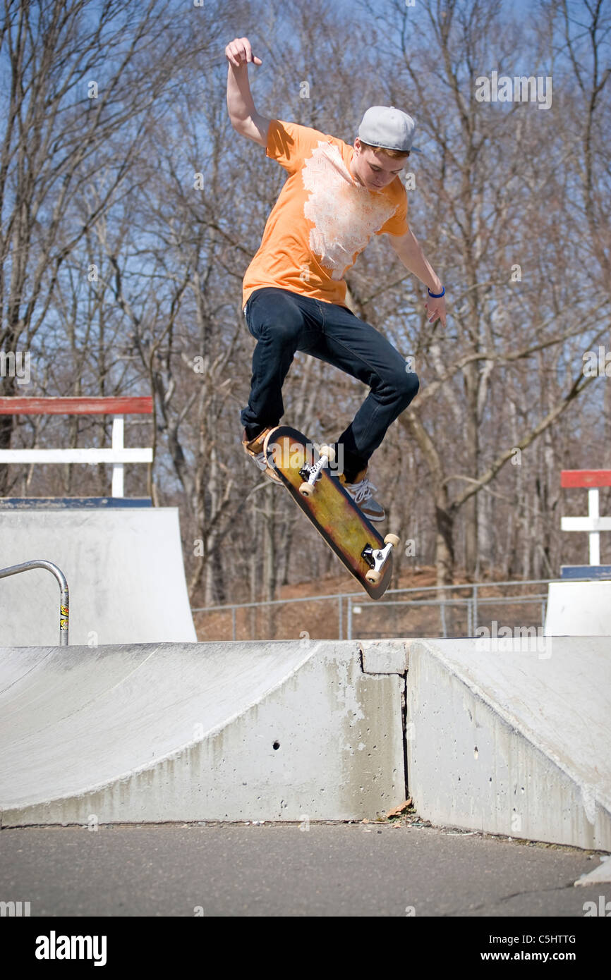
M 403 687 L 352 642 L 0 650 L 2 825 L 375 818 Z

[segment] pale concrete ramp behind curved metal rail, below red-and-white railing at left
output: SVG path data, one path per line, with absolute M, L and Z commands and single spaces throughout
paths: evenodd
M 58 564 L 70 588 L 71 644 L 197 639 L 176 508 L 0 511 L 0 566 Z M 58 643 L 59 588 L 43 569 L 0 579 L 0 644 Z

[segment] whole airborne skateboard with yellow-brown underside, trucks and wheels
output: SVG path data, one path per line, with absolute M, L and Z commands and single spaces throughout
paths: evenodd
M 279 474 L 295 503 L 372 599 L 380 599 L 392 575 L 396 534 L 381 534 L 344 490 L 332 446 L 316 447 L 297 429 L 279 425 L 263 446 L 269 466 Z

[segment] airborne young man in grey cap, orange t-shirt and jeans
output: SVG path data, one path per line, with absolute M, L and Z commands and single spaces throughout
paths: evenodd
M 283 414 L 281 389 L 296 351 L 346 371 L 370 392 L 337 440 L 339 479 L 371 520 L 383 520 L 368 479 L 369 460 L 386 429 L 410 404 L 418 378 L 401 355 L 345 305 L 343 275 L 372 234 L 387 234 L 397 256 L 429 289 L 430 322 L 445 324 L 445 290 L 407 224 L 407 195 L 399 179 L 414 121 L 393 107 L 365 113 L 354 147 L 317 129 L 269 120 L 255 109 L 248 82 L 253 57 L 247 37 L 225 49 L 229 61 L 229 119 L 242 136 L 266 149 L 288 173 L 267 221 L 261 247 L 246 270 L 242 301 L 257 341 L 242 444 L 261 469 L 263 442 Z

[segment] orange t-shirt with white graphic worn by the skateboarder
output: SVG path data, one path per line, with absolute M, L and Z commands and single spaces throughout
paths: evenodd
M 266 153 L 288 177 L 246 270 L 242 306 L 278 286 L 345 306 L 345 272 L 373 234 L 404 235 L 407 194 L 398 176 L 369 191 L 350 174 L 354 148 L 318 129 L 272 120 Z

